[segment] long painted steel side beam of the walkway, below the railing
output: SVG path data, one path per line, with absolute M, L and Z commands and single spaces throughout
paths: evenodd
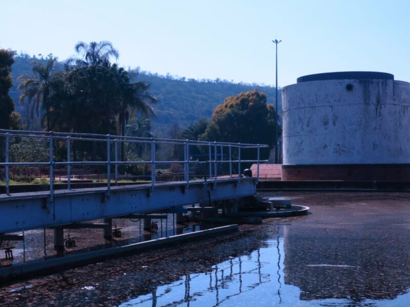
M 0 233 L 251 196 L 256 178 L 195 180 L 0 195 Z

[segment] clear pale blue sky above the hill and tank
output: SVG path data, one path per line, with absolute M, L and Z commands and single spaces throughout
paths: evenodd
M 410 81 L 407 0 L 15 0 L 1 4 L 0 48 L 74 54 L 77 41 L 109 40 L 118 63 L 187 78 L 275 83 L 368 70 Z

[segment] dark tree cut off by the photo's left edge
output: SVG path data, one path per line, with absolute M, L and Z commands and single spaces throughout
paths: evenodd
M 11 114 L 14 111 L 14 102 L 9 96 L 13 85 L 10 72 L 14 63 L 13 52 L 0 49 L 0 128 L 10 129 Z

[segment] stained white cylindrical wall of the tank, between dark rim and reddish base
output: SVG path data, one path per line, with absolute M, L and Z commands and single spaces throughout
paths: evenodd
M 282 102 L 285 165 L 410 163 L 410 83 L 300 82 Z

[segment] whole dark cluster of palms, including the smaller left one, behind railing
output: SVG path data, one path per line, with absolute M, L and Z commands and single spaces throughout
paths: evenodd
M 42 127 L 53 131 L 124 135 L 130 117 L 155 115 L 151 104 L 157 100 L 148 93 L 148 83 L 131 82 L 128 71 L 111 64 L 110 58 L 117 58 L 118 52 L 110 42 L 78 42 L 75 51 L 78 57 L 66 61 L 65 71 L 56 70 L 57 60 L 49 56 L 46 60 L 33 61 L 32 74 L 19 77 L 19 101 L 30 105 L 31 118 L 34 110 L 37 111 Z M 105 159 L 105 146 L 74 141 L 73 159 Z M 60 151 L 64 152 L 57 150 L 57 153 Z M 124 156 L 121 147 L 121 160 Z

